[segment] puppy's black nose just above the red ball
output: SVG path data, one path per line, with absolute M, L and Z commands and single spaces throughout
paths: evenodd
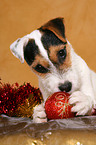
M 69 81 L 66 81 L 64 84 L 60 84 L 58 88 L 59 88 L 59 90 L 62 91 L 62 92 L 63 92 L 63 91 L 69 92 L 69 91 L 71 91 L 72 83 L 69 82 Z

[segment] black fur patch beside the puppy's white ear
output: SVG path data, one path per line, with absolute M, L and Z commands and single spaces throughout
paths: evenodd
M 39 54 L 38 46 L 36 45 L 34 39 L 30 39 L 24 47 L 24 59 L 29 65 L 31 65 L 37 54 Z

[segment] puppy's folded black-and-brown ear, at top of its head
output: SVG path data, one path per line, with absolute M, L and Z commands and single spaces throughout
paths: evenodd
M 40 27 L 41 30 L 50 30 L 61 41 L 66 43 L 64 18 L 56 18 L 48 21 L 46 24 Z

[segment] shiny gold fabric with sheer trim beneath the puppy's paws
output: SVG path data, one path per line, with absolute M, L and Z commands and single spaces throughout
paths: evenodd
M 28 118 L 2 117 L 0 145 L 96 145 L 96 116 L 42 124 Z

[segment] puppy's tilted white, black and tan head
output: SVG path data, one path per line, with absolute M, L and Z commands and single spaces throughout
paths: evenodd
M 73 49 L 65 37 L 63 18 L 50 20 L 39 29 L 16 40 L 10 48 L 21 62 L 25 59 L 38 75 L 42 92 L 71 92 L 76 88 Z

